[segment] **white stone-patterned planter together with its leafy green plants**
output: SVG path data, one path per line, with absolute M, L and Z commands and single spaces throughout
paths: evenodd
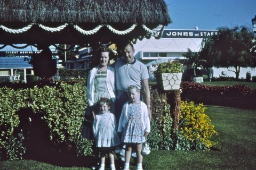
M 154 75 L 158 86 L 164 90 L 178 90 L 180 88 L 183 67 L 179 61 L 168 61 L 157 66 Z

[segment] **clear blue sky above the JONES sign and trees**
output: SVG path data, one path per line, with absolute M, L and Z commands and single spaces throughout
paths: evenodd
M 255 0 L 165 0 L 172 23 L 166 29 L 213 30 L 245 25 L 252 29 Z

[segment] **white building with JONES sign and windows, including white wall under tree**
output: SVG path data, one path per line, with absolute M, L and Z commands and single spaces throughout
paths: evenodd
M 201 50 L 202 40 L 217 34 L 217 30 L 172 30 L 165 29 L 161 39 L 150 38 L 137 40 L 134 44 L 135 58 L 145 63 L 153 60 L 185 60 L 182 54 L 187 53 L 188 48 L 192 52 Z M 235 70 L 231 67 L 229 70 Z M 250 72 L 252 76 L 256 75 L 255 69 L 241 68 L 239 78 L 245 78 L 246 72 Z M 213 77 L 235 77 L 234 72 L 230 72 L 227 68 L 214 68 Z

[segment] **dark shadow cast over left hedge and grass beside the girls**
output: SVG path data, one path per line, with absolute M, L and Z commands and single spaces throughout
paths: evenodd
M 24 159 L 36 160 L 61 167 L 91 167 L 98 160 L 92 156 L 77 156 L 74 150 L 65 146 L 54 145 L 49 139 L 49 131 L 42 118 L 31 109 L 24 108 L 18 112 L 20 126 L 25 135 L 26 152 Z

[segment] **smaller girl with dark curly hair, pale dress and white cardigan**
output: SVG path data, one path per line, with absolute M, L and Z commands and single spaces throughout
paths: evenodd
M 115 170 L 114 147 L 120 145 L 120 140 L 116 131 L 116 117 L 109 112 L 111 100 L 100 98 L 97 103 L 99 113 L 95 115 L 93 121 L 93 135 L 95 145 L 100 154 L 99 170 L 105 169 L 105 155 L 108 154 L 110 159 L 110 169 Z

